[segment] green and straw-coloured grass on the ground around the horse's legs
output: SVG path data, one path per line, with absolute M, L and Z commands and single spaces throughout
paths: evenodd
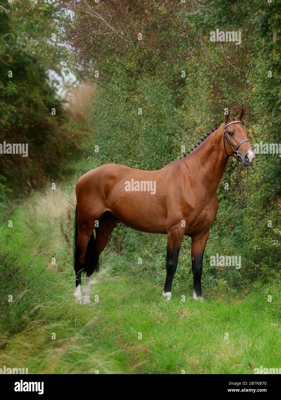
M 175 280 L 167 302 L 164 262 L 154 275 L 111 243 L 93 279 L 92 303 L 75 303 L 74 205 L 73 185 L 37 192 L 8 218 L 12 228 L 7 221 L 0 228 L 0 248 L 9 250 L 0 260 L 0 367 L 45 374 L 253 374 L 260 365 L 280 366 L 277 281 L 256 283 L 238 298 L 203 289 L 204 302 L 196 302 L 190 285 Z M 156 250 L 149 251 L 156 264 Z

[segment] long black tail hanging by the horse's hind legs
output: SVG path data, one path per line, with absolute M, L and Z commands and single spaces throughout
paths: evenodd
M 99 257 L 97 255 L 97 247 L 95 244 L 94 233 L 92 233 L 89 243 L 88 243 L 88 246 L 87 246 L 86 254 L 85 254 L 85 263 L 83 266 L 80 265 L 79 251 L 77 248 L 77 242 L 78 242 L 77 204 L 76 204 L 76 209 L 75 209 L 74 224 L 75 224 L 75 236 L 74 236 L 74 248 L 73 248 L 74 269 L 75 269 L 75 273 L 76 273 L 76 286 L 78 286 L 79 284 L 81 285 L 81 272 L 82 271 L 85 271 L 87 276 L 93 274 L 93 272 L 98 272 Z

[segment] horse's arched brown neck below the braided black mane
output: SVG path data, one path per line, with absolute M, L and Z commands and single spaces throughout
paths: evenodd
M 192 176 L 200 180 L 209 192 L 216 192 L 229 159 L 222 147 L 222 134 L 223 125 L 182 159 Z

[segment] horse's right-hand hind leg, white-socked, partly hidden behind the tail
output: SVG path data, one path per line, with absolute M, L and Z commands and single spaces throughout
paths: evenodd
M 105 213 L 99 222 L 99 228 L 95 228 L 95 230 L 96 230 L 95 246 L 96 246 L 96 251 L 97 251 L 97 258 L 99 258 L 99 255 L 105 248 L 108 238 L 109 238 L 109 235 L 115 228 L 116 223 L 117 223 L 117 221 L 114 219 L 112 214 L 110 216 L 108 216 L 108 214 Z M 86 272 L 85 284 L 84 284 L 83 290 L 82 290 L 84 304 L 90 303 L 89 296 L 90 296 L 90 288 L 91 288 L 91 278 L 92 278 L 92 274 L 87 274 L 87 272 Z

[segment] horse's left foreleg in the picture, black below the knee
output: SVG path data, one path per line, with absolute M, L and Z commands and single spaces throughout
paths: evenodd
M 166 281 L 163 291 L 163 296 L 170 300 L 172 296 L 172 280 L 178 265 L 178 254 L 182 239 L 184 237 L 184 230 L 182 228 L 172 228 L 168 231 L 167 238 L 167 256 L 166 256 Z

